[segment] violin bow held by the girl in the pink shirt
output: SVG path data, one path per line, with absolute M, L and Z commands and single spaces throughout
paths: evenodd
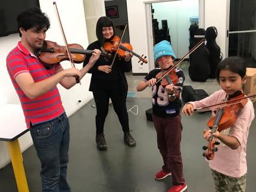
M 195 113 L 200 113 L 200 112 L 210 111 L 210 110 L 213 110 L 213 109 L 222 108 L 224 106 L 235 105 L 237 103 L 245 102 L 245 100 L 243 101 L 243 99 L 247 99 L 247 98 L 250 98 L 250 97 L 252 97 L 252 98 L 249 99 L 249 100 L 254 100 L 254 99 L 256 99 L 255 96 L 256 96 L 256 94 L 255 95 L 251 95 L 251 96 L 246 96 L 246 97 L 238 98 L 238 99 L 227 100 L 226 102 L 217 103 L 217 104 L 210 105 L 210 106 L 205 106 L 205 107 L 202 107 L 202 108 L 196 108 L 196 109 L 194 109 L 194 112 Z M 234 101 L 235 101 L 235 103 L 233 103 Z M 232 102 L 232 103 L 230 103 L 230 102 Z M 227 103 L 229 103 L 229 104 L 227 104 Z

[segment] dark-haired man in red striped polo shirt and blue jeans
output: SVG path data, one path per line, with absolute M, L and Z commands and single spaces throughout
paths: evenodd
M 95 64 L 101 51 L 93 50 L 82 70 L 63 70 L 60 64 L 44 67 L 36 56 L 49 29 L 49 18 L 40 8 L 17 17 L 21 41 L 7 56 L 7 70 L 20 98 L 27 127 L 41 162 L 42 191 L 70 191 L 67 184 L 69 122 L 57 84 L 66 89 L 76 84 Z

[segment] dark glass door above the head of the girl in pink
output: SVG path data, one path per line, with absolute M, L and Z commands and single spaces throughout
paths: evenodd
M 241 56 L 256 67 L 256 0 L 230 0 L 228 56 Z

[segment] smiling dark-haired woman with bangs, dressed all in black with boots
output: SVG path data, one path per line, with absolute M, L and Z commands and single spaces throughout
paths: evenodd
M 113 39 L 115 35 L 113 22 L 108 17 L 100 17 L 96 24 L 95 42 L 90 43 L 87 49 L 104 50 L 104 43 Z M 112 53 L 111 59 L 100 56 L 95 65 L 90 69 L 92 74 L 89 91 L 93 92 L 93 98 L 96 103 L 96 144 L 99 150 L 107 149 L 107 142 L 104 136 L 104 122 L 108 114 L 108 103 L 111 99 L 114 111 L 118 116 L 121 127 L 124 132 L 124 142 L 130 146 L 136 146 L 136 142 L 130 134 L 129 118 L 126 109 L 126 96 L 128 84 L 124 72 L 132 70 L 132 53 L 126 52 L 126 57 L 115 57 L 113 66 L 111 60 L 114 58 Z M 83 63 L 87 65 L 89 57 Z

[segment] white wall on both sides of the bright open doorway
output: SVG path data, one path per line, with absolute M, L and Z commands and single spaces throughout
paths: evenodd
M 205 29 L 210 26 L 216 26 L 218 30 L 218 37 L 216 39 L 217 44 L 220 46 L 221 52 L 223 54 L 226 50 L 226 13 L 227 13 L 227 1 L 229 0 L 205 0 L 204 6 L 199 6 L 199 8 L 205 8 L 204 10 L 204 25 Z M 127 1 L 127 14 L 129 22 L 129 34 L 130 43 L 137 52 L 148 53 L 148 37 L 146 36 L 146 12 L 145 3 L 148 2 L 160 2 L 158 0 L 128 0 Z M 217 10 L 217 11 L 216 11 Z M 202 13 L 202 10 L 199 10 Z M 201 20 L 200 20 L 201 21 Z M 225 54 L 224 54 L 225 56 Z M 136 58 L 132 58 L 133 73 L 148 73 L 149 65 L 138 64 Z M 150 62 L 150 61 L 149 61 Z

